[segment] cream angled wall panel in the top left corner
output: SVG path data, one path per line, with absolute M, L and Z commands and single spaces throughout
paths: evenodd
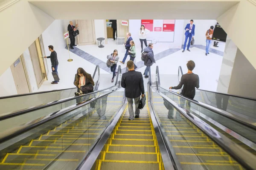
M 54 18 L 27 0 L 19 0 L 0 11 L 0 75 L 15 62 L 36 38 L 54 21 Z M 7 26 L 7 27 L 6 27 Z

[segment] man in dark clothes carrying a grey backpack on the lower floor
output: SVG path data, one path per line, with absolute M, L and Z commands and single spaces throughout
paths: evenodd
M 153 48 L 153 44 L 149 43 L 148 46 L 144 48 L 144 52 L 141 54 L 141 60 L 144 61 L 144 65 L 147 66 L 143 74 L 145 75 L 145 78 L 148 78 L 149 67 L 154 63 L 156 63 L 152 48 Z

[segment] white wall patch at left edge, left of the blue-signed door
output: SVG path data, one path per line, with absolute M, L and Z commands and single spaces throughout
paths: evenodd
M 0 97 L 15 95 L 17 89 L 15 82 L 12 76 L 11 68 L 9 67 L 1 76 L 0 76 Z

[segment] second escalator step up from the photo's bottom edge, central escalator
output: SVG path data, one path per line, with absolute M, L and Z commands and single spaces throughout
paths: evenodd
M 125 160 L 125 161 L 157 161 L 157 154 L 143 153 L 106 153 L 105 160 Z

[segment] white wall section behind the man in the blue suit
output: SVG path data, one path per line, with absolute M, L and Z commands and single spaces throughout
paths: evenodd
M 184 20 L 184 25 L 182 28 L 182 31 L 183 31 L 182 44 L 184 44 L 184 41 L 185 41 L 185 27 L 188 23 L 190 23 L 190 20 Z M 216 20 L 194 20 L 195 45 L 206 45 L 205 33 L 210 28 L 210 26 L 215 27 L 216 23 L 217 23 Z

